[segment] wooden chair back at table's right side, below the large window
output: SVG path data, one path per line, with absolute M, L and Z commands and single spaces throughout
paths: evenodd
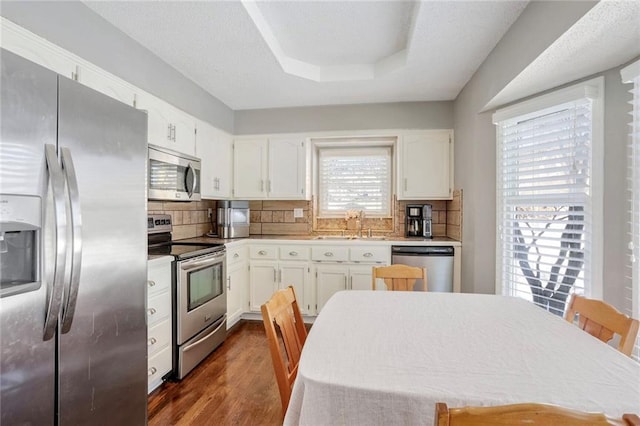
M 574 294 L 567 307 L 565 319 L 573 324 L 576 314 L 578 326 L 605 343 L 613 339 L 614 334 L 620 335 L 618 350 L 631 356 L 640 324 L 637 319 L 628 317 L 602 300 L 587 299 Z

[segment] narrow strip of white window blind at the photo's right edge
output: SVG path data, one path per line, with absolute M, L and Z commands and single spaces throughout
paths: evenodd
M 633 83 L 630 92 L 631 122 L 629 123 L 629 204 L 631 206 L 631 276 L 630 285 L 625 289 L 626 313 L 640 318 L 640 61 L 622 71 L 622 82 Z M 632 356 L 640 361 L 640 336 L 636 340 Z

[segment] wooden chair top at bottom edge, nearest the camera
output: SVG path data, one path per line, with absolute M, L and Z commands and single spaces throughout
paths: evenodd
M 602 413 L 586 413 L 549 404 L 511 404 L 495 407 L 449 408 L 436 403 L 434 426 L 640 426 L 640 417 L 625 414 L 613 419 Z

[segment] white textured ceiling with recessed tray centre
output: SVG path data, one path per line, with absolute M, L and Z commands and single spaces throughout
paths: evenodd
M 527 2 L 85 4 L 243 110 L 453 100 Z

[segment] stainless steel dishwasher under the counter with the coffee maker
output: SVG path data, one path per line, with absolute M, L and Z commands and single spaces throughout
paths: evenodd
M 391 264 L 427 268 L 427 291 L 453 292 L 453 246 L 391 246 Z

